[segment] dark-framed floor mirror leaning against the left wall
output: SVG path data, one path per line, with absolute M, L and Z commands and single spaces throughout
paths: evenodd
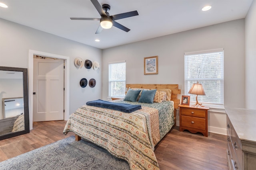
M 0 66 L 0 140 L 29 133 L 28 69 Z

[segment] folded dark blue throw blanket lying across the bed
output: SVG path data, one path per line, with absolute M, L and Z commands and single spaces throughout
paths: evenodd
M 118 110 L 118 111 L 122 111 L 125 113 L 132 113 L 133 111 L 141 109 L 141 105 L 113 103 L 113 102 L 108 102 L 108 101 L 104 101 L 104 100 L 100 100 L 100 99 L 87 102 L 86 105 Z

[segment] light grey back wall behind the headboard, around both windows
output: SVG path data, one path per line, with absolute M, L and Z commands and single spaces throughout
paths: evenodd
M 224 105 L 244 108 L 244 19 L 104 49 L 102 98 L 108 97 L 109 62 L 126 60 L 127 84 L 179 84 L 184 95 L 184 53 L 218 48 L 224 48 Z M 158 74 L 144 75 L 144 57 L 156 55 Z M 225 113 L 210 112 L 208 125 L 226 134 Z

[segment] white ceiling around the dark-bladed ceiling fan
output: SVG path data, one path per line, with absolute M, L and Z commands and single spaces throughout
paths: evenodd
M 131 29 L 116 27 L 95 34 L 100 21 L 70 20 L 100 18 L 90 0 L 0 0 L 0 18 L 107 49 L 136 41 L 245 18 L 252 0 L 98 0 L 109 4 L 110 15 L 137 10 L 139 15 L 116 20 Z M 201 10 L 205 5 L 212 9 Z M 94 41 L 100 39 L 100 42 Z

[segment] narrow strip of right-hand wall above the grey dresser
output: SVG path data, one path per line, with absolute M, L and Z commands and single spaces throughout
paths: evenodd
M 245 20 L 245 65 L 245 107 L 256 109 L 256 0 Z

